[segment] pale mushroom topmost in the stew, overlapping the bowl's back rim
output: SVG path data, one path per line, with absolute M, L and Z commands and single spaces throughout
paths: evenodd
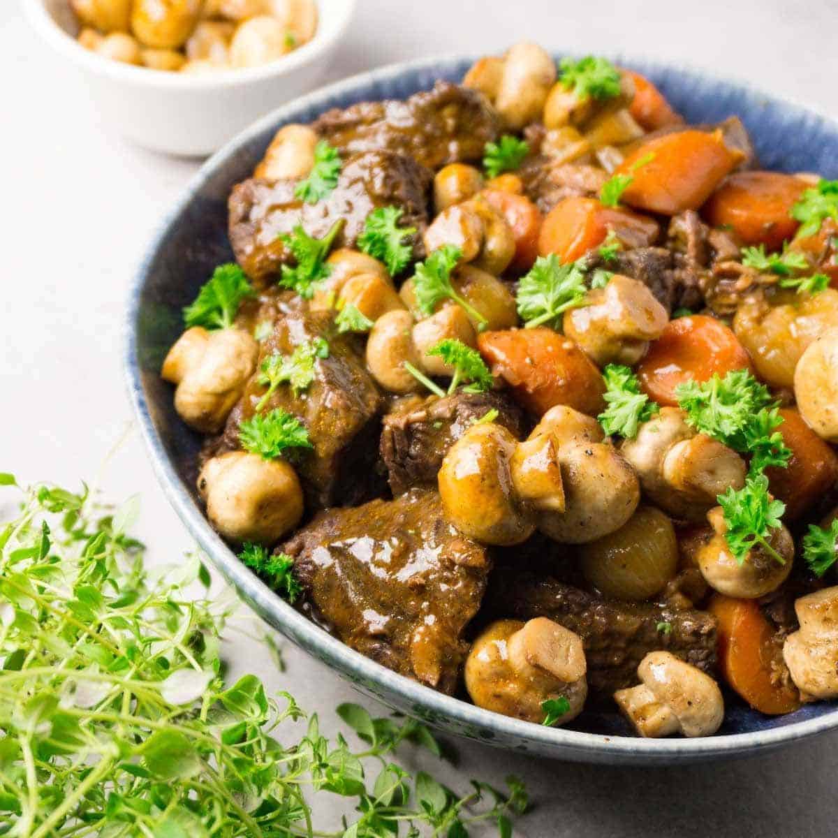
M 500 59 L 481 59 L 463 85 L 484 93 L 510 127 L 537 122 L 556 80 L 556 64 L 537 44 L 515 44 Z

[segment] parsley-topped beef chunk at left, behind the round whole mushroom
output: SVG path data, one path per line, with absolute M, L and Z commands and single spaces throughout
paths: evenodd
M 328 340 L 328 358 L 317 360 L 313 383 L 298 396 L 289 385 L 280 385 L 263 408 L 288 411 L 308 428 L 313 451 L 299 453 L 295 467 L 308 508 L 314 510 L 360 503 L 385 489 L 383 475 L 375 470 L 384 401 L 354 336 L 333 334 L 326 312 L 288 311 L 261 344 L 259 363 L 274 352 L 291 354 L 298 344 L 320 337 Z M 239 422 L 253 416 L 265 392 L 257 378 L 254 375 L 230 414 L 224 442 L 215 446 L 215 453 L 240 447 Z

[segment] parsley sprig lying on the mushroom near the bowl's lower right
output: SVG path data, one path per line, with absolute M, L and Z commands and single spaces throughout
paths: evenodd
M 761 546 L 775 561 L 785 564 L 783 556 L 768 542 L 771 530 L 779 530 L 782 526 L 780 518 L 785 512 L 785 504 L 771 499 L 768 478 L 764 474 L 748 475 L 742 489 L 731 487 L 717 500 L 727 525 L 727 546 L 740 565 L 755 546 Z

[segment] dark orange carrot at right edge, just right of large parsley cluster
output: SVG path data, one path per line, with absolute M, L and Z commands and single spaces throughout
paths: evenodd
M 786 504 L 785 519 L 800 517 L 838 480 L 838 455 L 804 421 L 794 407 L 781 408 L 778 431 L 791 449 L 787 468 L 766 468 L 771 494 Z

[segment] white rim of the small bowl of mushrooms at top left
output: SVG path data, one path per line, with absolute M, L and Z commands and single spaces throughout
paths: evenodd
M 313 39 L 287 55 L 283 55 L 281 59 L 258 67 L 218 70 L 208 75 L 153 70 L 150 67 L 139 67 L 105 58 L 90 49 L 85 49 L 65 32 L 47 11 L 45 0 L 23 0 L 23 11 L 32 26 L 54 49 L 65 58 L 93 73 L 140 87 L 164 88 L 173 91 L 210 91 L 281 78 L 282 75 L 298 67 L 323 58 L 349 27 L 357 3 L 358 0 L 339 0 L 339 3 L 335 4 L 334 23 L 330 23 L 322 35 L 320 34 L 321 24 L 318 24 L 318 31 Z

